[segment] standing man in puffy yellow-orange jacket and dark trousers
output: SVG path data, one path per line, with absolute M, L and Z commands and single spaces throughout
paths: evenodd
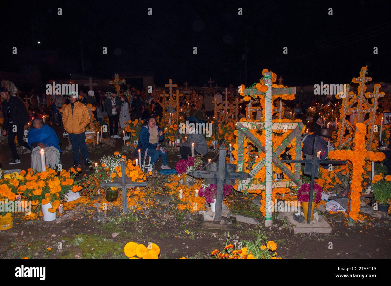
M 72 151 L 74 153 L 74 167 L 81 167 L 80 155 L 83 155 L 85 167 L 88 168 L 88 151 L 86 144 L 86 127 L 90 123 L 90 115 L 88 108 L 81 103 L 77 92 L 72 92 L 70 95 L 70 103 L 66 105 L 63 112 L 63 125 L 66 132 L 68 132 L 69 140 L 72 144 Z

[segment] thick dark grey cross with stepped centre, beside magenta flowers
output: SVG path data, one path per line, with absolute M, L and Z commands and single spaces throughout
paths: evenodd
M 208 178 L 208 183 L 216 184 L 216 208 L 215 208 L 215 222 L 221 220 L 221 210 L 223 201 L 224 185 L 235 185 L 235 180 L 244 180 L 249 178 L 248 173 L 236 172 L 235 164 L 226 164 L 225 157 L 227 150 L 224 143 L 219 148 L 219 163 L 210 163 L 207 168 L 210 171 L 192 171 L 188 174 L 195 178 Z M 212 171 L 212 169 L 214 169 Z

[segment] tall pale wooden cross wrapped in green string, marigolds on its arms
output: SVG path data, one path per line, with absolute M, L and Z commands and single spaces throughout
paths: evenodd
M 265 193 L 266 193 L 266 205 L 271 204 L 272 193 L 273 193 L 273 131 L 272 131 L 272 114 L 273 114 L 273 95 L 282 95 L 282 94 L 296 94 L 296 87 L 271 87 L 271 77 L 272 73 L 270 71 L 265 72 L 264 82 L 268 87 L 265 92 Z M 263 94 L 258 91 L 256 88 L 247 88 L 247 95 L 252 94 Z M 246 92 L 244 92 L 246 93 Z M 289 170 L 288 170 L 289 171 Z M 271 226 L 271 210 L 266 208 L 266 217 L 265 217 L 265 226 Z

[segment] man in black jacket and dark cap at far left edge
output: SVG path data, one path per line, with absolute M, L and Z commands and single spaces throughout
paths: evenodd
M 8 90 L 4 87 L 0 88 L 0 95 L 4 115 L 3 136 L 8 133 L 8 144 L 13 156 L 13 160 L 9 164 L 19 164 L 20 158 L 14 142 L 15 135 L 18 137 L 19 145 L 31 151 L 29 144 L 23 140 L 24 130 L 28 128 L 29 115 L 22 99 L 10 96 Z

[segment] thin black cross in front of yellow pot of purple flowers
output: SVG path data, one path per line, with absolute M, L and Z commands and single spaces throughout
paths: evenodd
M 312 200 L 314 198 L 314 182 L 317 172 L 319 172 L 319 164 L 346 164 L 346 161 L 338 160 L 320 160 L 317 157 L 317 137 L 314 138 L 314 145 L 312 148 L 312 157 L 310 156 L 306 160 L 281 160 L 282 163 L 305 163 L 310 164 L 311 167 L 311 183 L 310 183 L 310 198 L 308 199 L 308 212 L 307 212 L 307 224 L 310 223 L 311 211 L 312 211 Z

